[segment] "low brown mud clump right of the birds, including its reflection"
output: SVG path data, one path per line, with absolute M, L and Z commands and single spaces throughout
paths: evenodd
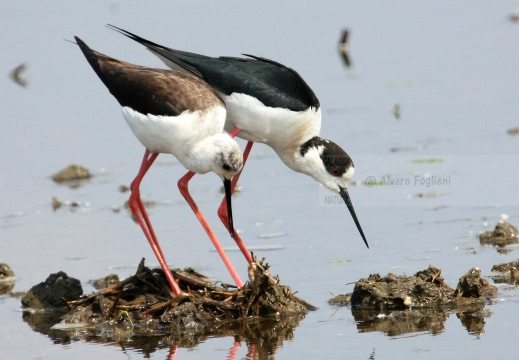
M 441 270 L 434 266 L 412 276 L 370 275 L 360 279 L 353 293 L 339 295 L 329 303 L 350 306 L 359 331 L 380 331 L 395 336 L 444 330 L 445 321 L 455 313 L 469 333 L 484 331 L 490 316 L 487 303 L 497 288 L 481 278 L 481 270 L 470 269 L 460 277 L 456 288 L 445 283 Z

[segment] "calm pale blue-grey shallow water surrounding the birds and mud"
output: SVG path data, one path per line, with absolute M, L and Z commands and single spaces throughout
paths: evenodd
M 355 161 L 350 194 L 370 250 L 333 195 L 289 171 L 267 147 L 253 148 L 240 180 L 243 192 L 234 202 L 235 224 L 273 274 L 319 307 L 273 346 L 273 357 L 514 358 L 515 286 L 497 284 L 497 300 L 469 317 L 478 320 L 477 327 L 467 326 L 464 314 L 447 312 L 440 325 L 407 333 L 374 324 L 383 320 L 380 314 L 357 317 L 327 300 L 352 291 L 348 283 L 372 273 L 413 274 L 432 264 L 455 286 L 474 266 L 485 276 L 492 265 L 518 258 L 516 246 L 481 246 L 477 238 L 501 218 L 519 224 L 519 138 L 507 134 L 518 126 L 519 113 L 519 24 L 509 19 L 516 6 L 513 1 L 3 4 L 0 262 L 17 275 L 13 291 L 26 291 L 63 270 L 89 292 L 90 279 L 108 273 L 124 278 L 141 257 L 154 261 L 122 209 L 128 193 L 118 190 L 135 175 L 143 149 L 79 51 L 63 41 L 78 35 L 114 57 L 161 66 L 104 27 L 112 23 L 180 49 L 251 53 L 290 65 L 321 101 L 323 137 L 341 144 Z M 351 30 L 350 68 L 337 50 L 344 27 Z M 26 88 L 8 75 L 24 62 Z M 142 195 L 156 202 L 150 215 L 166 257 L 173 266 L 193 266 L 230 282 L 176 189 L 182 167 L 165 155 L 158 161 Z M 51 176 L 71 163 L 94 176 L 80 186 L 53 183 Z M 216 216 L 219 187 L 214 175 L 195 177 L 190 186 L 217 235 L 232 248 Z M 77 206 L 53 211 L 53 197 Z M 240 253 L 231 251 L 230 257 L 245 277 Z M 49 332 L 19 307 L 19 298 L 0 295 L 2 358 L 163 359 L 174 350 L 167 339 L 106 344 L 85 339 L 81 330 Z M 249 351 L 245 341 L 238 346 L 232 337 L 210 337 L 180 346 L 174 356 L 238 359 L 250 357 Z

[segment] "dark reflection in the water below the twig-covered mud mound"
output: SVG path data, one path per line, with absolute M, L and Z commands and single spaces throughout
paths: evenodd
M 294 338 L 294 330 L 304 315 L 294 315 L 285 319 L 254 319 L 222 323 L 220 327 L 211 329 L 205 334 L 173 333 L 168 334 L 166 328 L 161 333 L 146 335 L 137 334 L 139 329 L 128 330 L 115 326 L 75 327 L 62 329 L 55 325 L 60 323 L 64 313 L 23 313 L 23 321 L 32 330 L 48 336 L 54 344 L 67 345 L 75 341 L 114 345 L 120 350 L 135 350 L 149 358 L 158 350 L 169 349 L 167 359 L 174 359 L 178 348 L 194 348 L 209 338 L 229 338 L 226 359 L 235 359 L 238 349 L 245 345 L 248 353 L 245 359 L 270 359 L 276 350 L 283 346 L 285 340 Z M 145 331 L 146 329 L 140 329 Z

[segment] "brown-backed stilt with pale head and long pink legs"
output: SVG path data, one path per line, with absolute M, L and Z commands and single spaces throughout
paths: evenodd
M 139 194 L 141 181 L 159 153 L 174 155 L 189 170 L 178 181 L 180 192 L 209 235 L 236 285 L 243 286 L 188 190 L 188 182 L 195 173 L 215 172 L 224 183 L 229 209 L 227 226 L 234 236 L 231 179 L 242 169 L 243 155 L 236 141 L 222 134 L 225 103 L 196 76 L 129 64 L 90 49 L 78 37 L 75 39 L 96 74 L 122 106 L 123 116 L 134 135 L 146 147 L 139 172 L 131 183 L 129 206 L 164 270 L 173 295 L 178 295 L 180 289 L 168 269 Z

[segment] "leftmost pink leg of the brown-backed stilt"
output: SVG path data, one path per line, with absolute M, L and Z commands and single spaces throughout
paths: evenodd
M 162 253 L 162 249 L 160 248 L 160 244 L 157 240 L 157 236 L 155 235 L 155 231 L 153 230 L 153 226 L 151 226 L 148 213 L 144 208 L 144 204 L 142 203 L 139 191 L 139 187 L 141 185 L 142 179 L 144 178 L 144 175 L 146 175 L 146 172 L 149 170 L 150 166 L 153 164 L 158 155 L 158 153 L 150 154 L 150 151 L 146 149 L 139 172 L 130 185 L 132 193 L 130 195 L 130 199 L 128 200 L 128 206 L 130 207 L 130 210 L 133 216 L 135 217 L 135 220 L 144 232 L 146 239 L 148 239 L 151 249 L 155 253 L 157 260 L 159 261 L 159 264 L 162 267 L 162 270 L 164 271 L 166 279 L 168 279 L 169 285 L 171 286 L 171 290 L 173 292 L 173 296 L 177 296 L 181 292 L 180 288 L 178 287 L 178 284 L 173 278 L 171 270 L 169 270 L 168 268 L 168 263 L 166 262 L 166 258 Z

